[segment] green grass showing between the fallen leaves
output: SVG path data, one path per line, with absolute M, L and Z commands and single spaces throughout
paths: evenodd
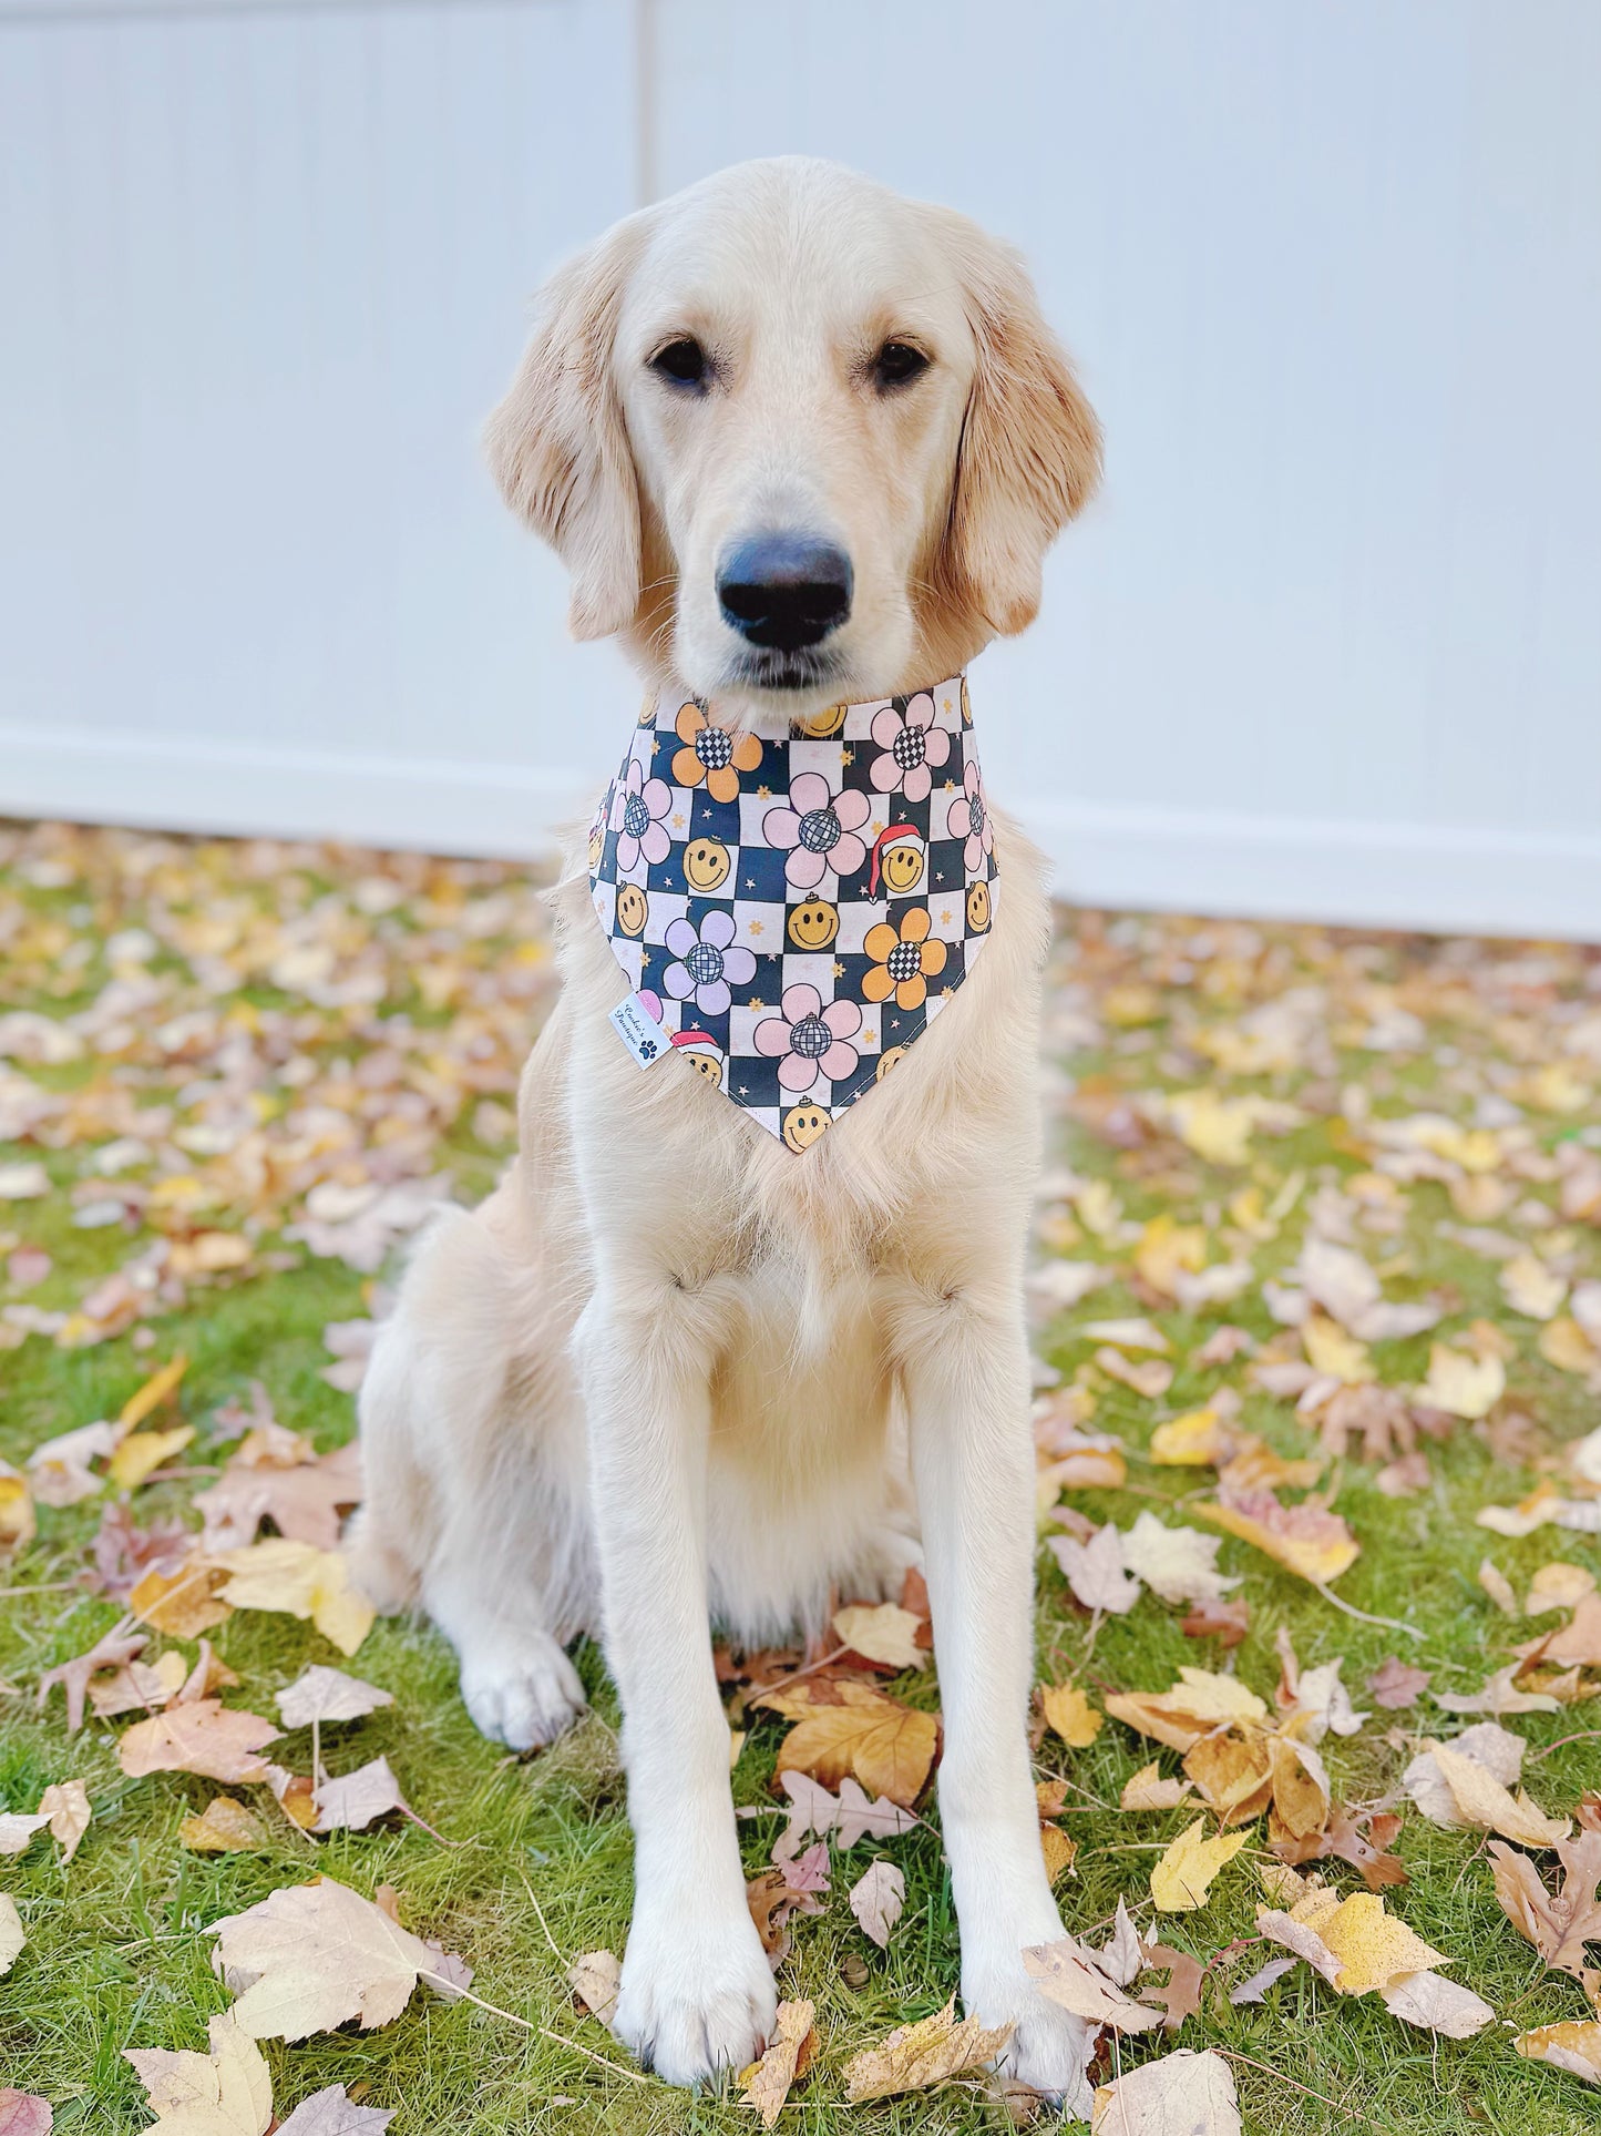
M 1110 1059 L 1099 1055 L 1076 1066 L 1093 1072 Z M 1375 1057 L 1358 1057 L 1353 1066 L 1358 1072 L 1392 1074 Z M 1349 1062 L 1345 1072 L 1351 1072 Z M 1417 1077 L 1417 1089 L 1402 1091 L 1407 1102 L 1422 1102 L 1430 1087 L 1426 1068 Z M 1114 1151 L 1082 1130 L 1063 1132 L 1061 1153 L 1080 1173 L 1112 1177 L 1136 1215 L 1166 1205 L 1166 1194 L 1131 1179 Z M 0 1145 L 0 1158 L 21 1156 L 32 1151 Z M 470 1138 L 457 1138 L 457 1156 L 467 1188 L 482 1188 L 491 1173 L 489 1156 Z M 1272 1156 L 1281 1171 L 1296 1162 L 1336 1173 L 1358 1168 L 1330 1145 L 1321 1119 L 1289 1145 L 1274 1145 Z M 1195 1171 L 1198 1200 L 1240 1183 L 1238 1175 Z M 1417 1188 L 1409 1230 L 1390 1245 L 1411 1250 L 1413 1282 L 1456 1286 L 1460 1309 L 1447 1329 L 1464 1326 L 1475 1314 L 1505 1318 L 1492 1267 L 1439 1235 L 1447 1213 L 1439 1188 Z M 68 1230 L 60 1207 L 38 1205 L 23 1215 L 28 1235 L 43 1237 L 60 1256 L 51 1282 L 62 1286 L 62 1294 L 81 1288 L 96 1256 L 109 1267 L 124 1250 L 107 1245 L 102 1232 Z M 1285 1254 L 1289 1250 L 1291 1241 L 1285 1241 Z M 1264 1271 L 1272 1269 L 1274 1254 L 1277 1247 L 1262 1256 Z M 1072 1371 L 1089 1354 L 1074 1339 L 1076 1322 L 1138 1309 L 1140 1301 L 1123 1286 L 1095 1292 L 1084 1307 L 1059 1316 L 1044 1331 L 1042 1350 Z M 201 1423 L 211 1408 L 260 1378 L 280 1418 L 312 1433 L 318 1446 L 333 1446 L 352 1429 L 352 1403 L 320 1378 L 329 1361 L 322 1326 L 361 1312 L 361 1277 L 339 1265 L 316 1262 L 192 1294 L 181 1312 L 154 1322 L 158 1341 L 143 1354 L 128 1335 L 88 1350 L 58 1350 L 32 1337 L 17 1350 L 0 1352 L 0 1452 L 19 1461 L 45 1435 L 115 1414 L 149 1371 L 152 1358 L 177 1348 L 192 1358 L 184 1384 L 190 1420 Z M 1183 1358 L 1204 1341 L 1217 1316 L 1191 1320 L 1170 1312 L 1159 1318 Z M 1262 1337 L 1272 1333 L 1255 1294 L 1225 1318 Z M 1526 1337 L 1524 1324 L 1524 1354 L 1516 1367 L 1520 1397 L 1554 1438 L 1586 1429 L 1592 1416 L 1580 1384 L 1539 1363 Z M 1388 1346 L 1385 1378 L 1422 1376 L 1426 1354 L 1428 1337 Z M 1232 1373 L 1183 1367 L 1157 1405 L 1112 1386 L 1095 1425 L 1121 1431 L 1138 1450 L 1159 1416 L 1191 1405 L 1221 1378 L 1238 1380 L 1238 1367 Z M 1281 1403 L 1251 1393 L 1245 1420 L 1287 1452 L 1306 1450 L 1306 1433 Z M 203 1438 L 192 1455 L 207 1459 Z M 1076 1504 L 1097 1521 L 1112 1517 L 1127 1525 L 1157 1499 L 1176 1502 L 1208 1482 L 1210 1472 L 1153 1470 L 1134 1461 L 1127 1491 L 1080 1493 Z M 1558 1555 L 1597 1564 L 1592 1544 L 1580 1536 L 1545 1529 L 1526 1542 L 1499 1542 L 1473 1525 L 1481 1504 L 1516 1497 L 1531 1482 L 1531 1472 L 1499 1465 L 1469 1427 L 1434 1459 L 1434 1485 L 1420 1497 L 1390 1499 L 1377 1491 L 1368 1470 L 1356 1461 L 1345 1465 L 1338 1510 L 1362 1538 L 1362 1559 L 1338 1591 L 1362 1611 L 1407 1619 L 1420 1630 L 1417 1640 L 1338 1615 L 1230 1538 L 1223 1566 L 1247 1574 L 1242 1591 L 1253 1611 L 1251 1634 L 1232 1662 L 1223 1662 L 1212 1643 L 1187 1640 L 1178 1613 L 1151 1596 L 1129 1617 L 1099 1623 L 1091 1649 L 1089 1619 L 1072 1606 L 1055 1561 L 1042 1553 L 1040 1675 L 1076 1675 L 1099 1700 L 1110 1690 L 1163 1687 L 1185 1664 L 1234 1666 L 1270 1698 L 1279 1670 L 1274 1634 L 1287 1625 L 1302 1664 L 1345 1655 L 1345 1681 L 1358 1705 L 1364 1702 L 1364 1679 L 1390 1653 L 1434 1670 L 1441 1690 L 1473 1690 L 1507 1658 L 1511 1638 L 1531 1630 L 1496 1617 L 1477 1587 L 1475 1570 L 1486 1551 L 1513 1585 Z M 147 1487 L 137 1497 L 141 1521 L 179 1510 L 194 1487 Z M 98 1517 L 98 1499 L 60 1512 L 41 1510 L 38 1540 L 4 1576 L 30 1589 L 73 1581 Z M 348 1666 L 389 1687 L 395 1705 L 327 1730 L 324 1758 L 337 1766 L 382 1752 L 414 1809 L 450 1843 L 440 1843 L 416 1824 L 399 1824 L 314 1846 L 278 1822 L 282 1839 L 275 1839 L 273 1852 L 207 1858 L 179 1846 L 177 1826 L 216 1792 L 209 1781 L 184 1775 L 128 1779 L 115 1758 L 115 1728 L 122 1724 L 90 1722 L 68 1741 L 60 1698 L 43 1715 L 34 1711 L 38 1672 L 85 1649 L 115 1615 L 111 1604 L 70 1591 L 13 1591 L 0 1608 L 0 1677 L 21 1687 L 21 1696 L 0 1700 L 0 1807 L 30 1809 L 43 1786 L 73 1775 L 85 1781 L 94 1803 L 94 1824 L 66 1869 L 45 1843 L 0 1865 L 0 1880 L 17 1897 L 30 1937 L 11 1976 L 0 1982 L 0 2085 L 47 2095 L 56 2104 L 58 2130 L 111 2136 L 145 2127 L 143 2091 L 122 2051 L 203 2046 L 207 2014 L 228 2006 L 203 1931 L 220 1916 L 320 1869 L 367 1895 L 384 1882 L 397 1886 L 408 1925 L 474 1965 L 478 1995 L 544 2031 L 525 2031 L 472 2004 L 444 2004 L 418 1993 L 403 2016 L 367 2036 L 346 2029 L 295 2048 L 267 2042 L 280 2117 L 320 2085 L 339 2080 L 367 2104 L 393 2106 L 395 2136 L 500 2130 L 713 2136 L 756 2125 L 732 2095 L 692 2098 L 655 2080 L 634 2080 L 625 2074 L 621 2051 L 574 2008 L 566 1989 L 566 1963 L 578 1952 L 596 1946 L 621 1950 L 630 1910 L 617 1707 L 593 1649 L 578 1653 L 593 1715 L 551 1752 L 514 1760 L 467 1722 L 444 1640 L 425 1623 L 380 1619 Z M 218 1647 L 241 1677 L 241 1690 L 228 1698 L 263 1713 L 273 1711 L 271 1694 L 307 1662 L 342 1660 L 310 1625 L 250 1613 L 220 1628 Z M 929 1687 L 929 1681 L 899 1685 L 912 1696 L 926 1696 Z M 1356 1739 L 1330 1739 L 1326 1756 L 1336 1794 L 1373 1799 L 1394 1786 L 1407 1749 L 1388 1741 L 1392 1724 L 1394 1730 L 1426 1730 L 1441 1719 L 1424 1702 L 1415 1713 L 1377 1715 Z M 1516 1726 L 1528 1737 L 1533 1756 L 1558 1737 L 1601 1726 L 1601 1715 L 1595 1705 L 1580 1705 L 1550 1717 L 1526 1715 Z M 756 1724 L 734 1773 L 736 1803 L 773 1801 L 781 1737 L 783 1724 Z M 1597 1784 L 1597 1743 L 1573 1743 L 1531 1762 L 1526 1777 L 1539 1803 L 1571 1809 L 1580 1790 Z M 1078 1839 L 1078 1863 L 1061 1884 L 1072 1929 L 1108 1920 L 1119 1895 L 1131 1903 L 1142 1899 L 1157 1846 L 1193 1816 L 1187 1809 L 1161 1818 L 1116 1811 L 1123 1781 L 1151 1756 L 1153 1747 L 1119 1724 L 1108 1724 L 1087 1752 L 1063 1756 L 1055 1739 L 1046 1741 L 1042 1777 L 1059 1773 L 1072 1786 L 1074 1809 L 1065 1824 Z M 775 1831 L 777 1818 L 741 1824 L 751 1873 L 764 1865 Z M 1223 1871 L 1204 1910 L 1163 1918 L 1166 1939 L 1208 1959 L 1232 1937 L 1251 1935 L 1257 1888 L 1249 1871 L 1259 1850 L 1257 1826 L 1247 1854 Z M 843 2104 L 843 2061 L 890 2025 L 939 2008 L 958 1974 L 937 1820 L 882 1850 L 907 1880 L 905 1914 L 888 1952 L 877 1952 L 860 1935 L 843 1903 L 845 1886 L 873 1852 L 869 1841 L 850 1856 L 837 1854 L 826 1914 L 794 1925 L 794 1952 L 779 1976 L 779 1991 L 815 2001 L 822 2051 L 781 2127 L 796 2136 L 1003 2130 L 1010 2125 L 1005 2110 L 976 2085 L 879 2106 Z M 1595 2130 L 1592 2091 L 1511 2051 L 1507 2027 L 1584 2016 L 1584 1999 L 1575 1982 L 1543 1976 L 1535 1952 L 1513 1933 L 1494 1901 L 1477 1839 L 1437 1831 L 1409 1813 L 1398 1852 L 1411 1882 L 1388 1895 L 1392 1907 L 1458 1961 L 1454 1978 L 1494 2004 L 1496 2027 L 1471 2042 L 1434 2042 L 1394 2021 L 1377 1999 L 1341 1999 L 1298 1967 L 1259 2008 L 1236 2010 L 1221 1993 L 1208 1993 L 1202 2014 L 1185 2025 L 1174 2044 L 1217 2046 L 1236 2057 L 1232 2068 L 1253 2136 L 1334 2136 L 1362 2125 L 1430 2136 L 1477 2136 L 1484 2130 L 1580 2136 Z M 1338 1888 L 1358 1888 L 1356 1873 L 1345 1865 L 1328 1865 L 1328 1873 Z M 1138 1918 L 1151 1925 L 1148 1901 Z M 546 1929 L 557 1950 L 546 1942 Z M 1225 1972 L 1223 1982 L 1245 1978 L 1268 1954 L 1257 1948 Z M 867 1967 L 865 1986 L 845 1984 L 845 1959 Z M 1125 2048 L 1127 2059 L 1146 2059 L 1148 2053 L 1138 2042 L 1131 2055 Z M 613 2068 L 600 2066 L 596 2055 Z

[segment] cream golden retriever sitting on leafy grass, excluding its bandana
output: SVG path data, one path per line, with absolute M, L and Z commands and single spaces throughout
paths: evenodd
M 568 566 L 578 637 L 621 637 L 651 701 L 777 739 L 1023 630 L 1099 431 L 1005 246 L 779 158 L 561 267 L 489 455 Z M 730 604 L 730 553 L 790 628 Z M 634 720 L 619 705 L 619 741 Z M 999 816 L 995 857 L 984 957 L 796 1153 L 619 1042 L 628 980 L 578 842 L 517 1160 L 425 1235 L 361 1395 L 356 1576 L 440 1625 L 478 1728 L 549 1743 L 583 1707 L 564 1643 L 604 1643 L 634 1826 L 615 2029 L 677 2085 L 739 2070 L 775 2012 L 711 1625 L 815 1634 L 830 1596 L 894 1596 L 922 1561 L 963 2001 L 1016 2025 L 1012 2074 L 1087 2110 L 1084 2027 L 1023 1965 L 1061 1935 L 1027 1745 L 1048 904 Z

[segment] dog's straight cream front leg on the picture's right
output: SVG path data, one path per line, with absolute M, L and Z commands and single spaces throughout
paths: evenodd
M 1014 2023 L 1010 2072 L 1087 2117 L 1087 2029 L 1023 1969 L 1025 1944 L 1061 1935 L 1027 1743 L 1035 1514 L 1023 1312 L 993 1279 L 920 1288 L 897 1350 L 946 1726 L 939 1822 L 963 2004 L 984 2025 Z

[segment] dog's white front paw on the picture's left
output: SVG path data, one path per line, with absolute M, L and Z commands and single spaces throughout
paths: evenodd
M 730 1920 L 660 1929 L 636 1916 L 613 2031 L 640 2068 L 668 2085 L 717 2083 L 756 2061 L 775 2014 L 773 1972 L 743 1907 Z

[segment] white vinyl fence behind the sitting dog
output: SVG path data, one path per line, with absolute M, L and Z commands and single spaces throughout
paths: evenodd
M 807 150 L 1106 421 L 973 677 L 1065 893 L 1601 938 L 1599 109 L 1595 0 L 0 0 L 0 812 L 536 850 L 632 686 L 480 470 L 527 295 Z

